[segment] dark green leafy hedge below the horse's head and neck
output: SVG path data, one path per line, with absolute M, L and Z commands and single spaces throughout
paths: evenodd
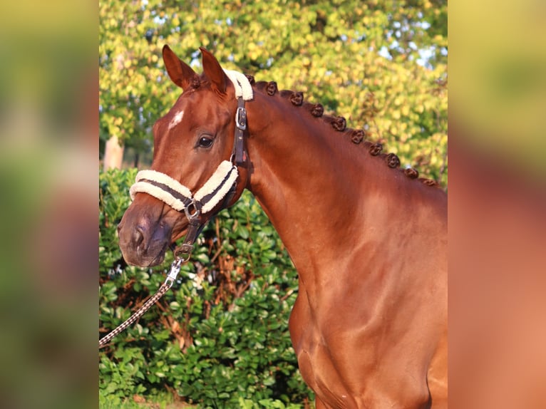
M 123 262 L 116 226 L 136 170 L 102 172 L 99 228 L 100 336 L 130 316 L 165 280 L 172 261 Z M 180 280 L 143 318 L 99 351 L 102 395 L 169 390 L 202 408 L 299 408 L 312 400 L 292 349 L 288 317 L 297 273 L 248 192 L 203 230 Z

